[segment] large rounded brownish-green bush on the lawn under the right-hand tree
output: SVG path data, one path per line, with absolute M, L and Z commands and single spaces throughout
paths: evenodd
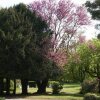
M 81 84 L 81 91 L 80 93 L 85 94 L 85 93 L 96 93 L 98 92 L 98 84 L 96 80 L 85 80 L 82 84 Z

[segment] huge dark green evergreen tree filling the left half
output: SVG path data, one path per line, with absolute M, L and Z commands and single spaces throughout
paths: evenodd
M 11 78 L 21 79 L 22 93 L 26 94 L 28 79 L 43 79 L 44 76 L 41 74 L 47 72 L 47 68 L 43 66 L 42 49 L 50 34 L 45 21 L 41 17 L 37 17 L 35 12 L 31 12 L 26 5 L 19 4 L 8 9 L 1 9 L 1 80 L 7 78 L 9 85 Z M 34 73 L 35 71 L 36 73 Z M 43 72 L 41 73 L 41 71 Z M 38 76 L 35 78 L 36 74 Z M 9 94 L 9 86 L 7 93 Z

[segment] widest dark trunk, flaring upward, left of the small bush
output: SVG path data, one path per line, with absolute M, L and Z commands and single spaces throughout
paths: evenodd
M 38 87 L 38 90 L 37 90 L 38 94 L 44 94 L 44 93 L 46 93 L 46 86 L 48 84 L 48 79 L 37 80 L 36 84 L 37 84 L 37 87 Z

